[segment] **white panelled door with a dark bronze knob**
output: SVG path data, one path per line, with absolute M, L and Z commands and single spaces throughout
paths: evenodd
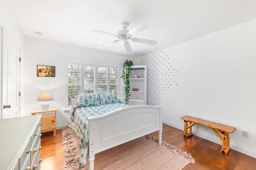
M 19 117 L 20 47 L 4 31 L 2 33 L 2 115 L 1 119 Z

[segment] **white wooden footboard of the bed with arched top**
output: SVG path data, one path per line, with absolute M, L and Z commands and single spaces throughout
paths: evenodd
M 161 110 L 162 106 L 135 105 L 89 117 L 89 170 L 94 168 L 96 153 L 157 130 L 162 144 Z

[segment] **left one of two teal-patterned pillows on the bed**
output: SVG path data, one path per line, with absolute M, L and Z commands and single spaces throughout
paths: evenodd
M 100 105 L 100 97 L 98 93 L 93 94 L 82 94 L 76 96 L 76 103 L 74 104 L 76 107 L 83 106 L 99 106 Z

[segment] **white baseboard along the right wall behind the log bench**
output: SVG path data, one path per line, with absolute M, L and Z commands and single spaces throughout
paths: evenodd
M 171 127 L 180 129 L 182 131 L 184 130 L 183 126 L 175 125 L 175 124 L 170 123 L 168 121 L 163 121 L 163 123 L 166 124 L 166 125 L 169 125 Z M 210 140 L 211 142 L 214 142 L 214 143 L 217 143 L 217 144 L 221 144 L 221 140 L 213 138 L 212 136 L 207 136 L 205 134 L 202 134 L 200 132 L 195 132 L 195 131 L 193 131 L 193 134 L 196 135 L 196 136 L 199 136 L 200 138 L 204 138 L 206 140 Z M 230 144 L 230 148 L 233 149 L 233 150 L 236 150 L 238 152 L 241 152 L 243 154 L 246 154 L 248 156 L 252 156 L 252 157 L 256 158 L 256 152 L 252 152 L 251 150 L 247 150 L 247 149 L 241 148 L 241 147 L 233 145 L 233 144 Z

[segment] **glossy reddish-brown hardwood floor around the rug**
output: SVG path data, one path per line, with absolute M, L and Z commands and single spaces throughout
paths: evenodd
M 42 133 L 41 170 L 65 170 L 64 150 L 62 149 L 62 129 Z M 158 136 L 158 132 L 152 133 Z M 214 134 L 213 134 L 214 135 Z M 163 124 L 162 140 L 187 151 L 195 164 L 188 164 L 184 170 L 256 170 L 256 158 L 230 150 L 221 154 L 221 146 L 198 136 L 183 138 L 183 131 Z

